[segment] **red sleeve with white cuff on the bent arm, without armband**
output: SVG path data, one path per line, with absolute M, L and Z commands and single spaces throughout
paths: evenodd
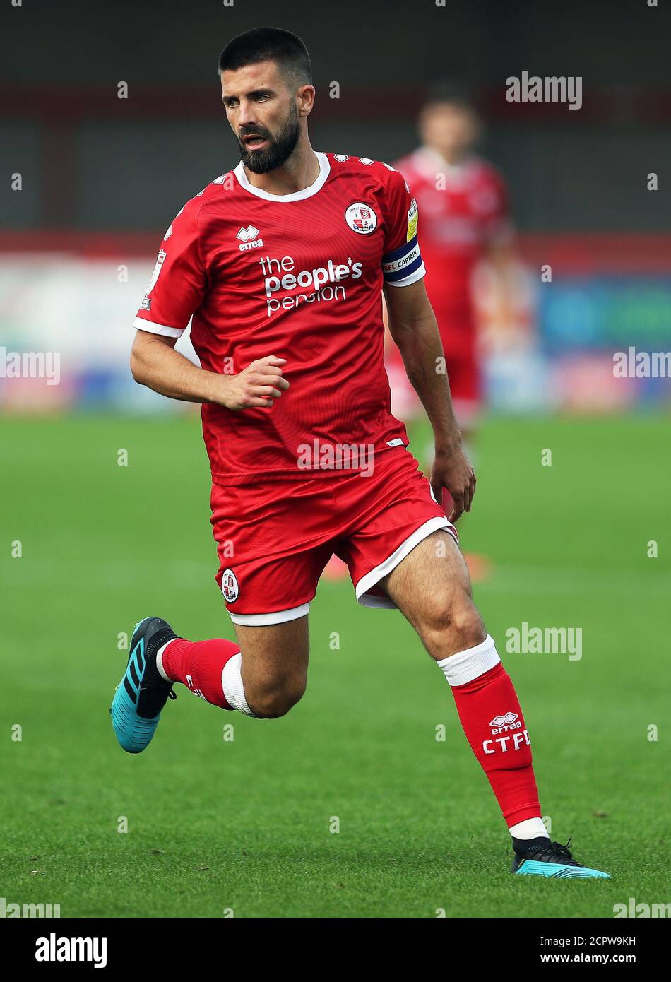
M 134 322 L 142 331 L 179 338 L 200 305 L 205 287 L 198 251 L 200 203 L 188 201 L 165 234 Z

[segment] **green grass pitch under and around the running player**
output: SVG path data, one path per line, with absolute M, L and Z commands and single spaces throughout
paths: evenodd
M 668 419 L 487 421 L 462 530 L 493 562 L 475 601 L 525 707 L 552 836 L 573 835 L 611 882 L 509 874 L 447 683 L 401 615 L 359 607 L 349 580 L 319 586 L 308 692 L 287 717 L 178 686 L 150 747 L 125 754 L 108 713 L 119 633 L 159 614 L 189 637 L 234 636 L 197 418 L 5 419 L 0 446 L 8 902 L 63 917 L 610 918 L 632 897 L 669 900 Z M 582 627 L 582 659 L 506 655 L 523 622 Z

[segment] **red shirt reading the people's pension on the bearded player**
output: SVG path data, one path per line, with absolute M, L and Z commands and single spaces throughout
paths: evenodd
M 304 191 L 254 188 L 241 163 L 196 194 L 166 232 L 140 304 L 135 326 L 154 334 L 179 337 L 193 315 L 191 340 L 208 371 L 287 359 L 290 388 L 272 408 L 203 404 L 217 483 L 296 479 L 306 446 L 318 448 L 314 477 L 337 472 L 324 464 L 329 447 L 378 453 L 408 443 L 390 410 L 381 288 L 383 277 L 403 287 L 424 275 L 417 204 L 386 164 L 317 158 L 319 176 Z

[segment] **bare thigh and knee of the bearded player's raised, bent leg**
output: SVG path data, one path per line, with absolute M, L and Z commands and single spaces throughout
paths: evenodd
M 284 716 L 308 683 L 308 615 L 285 624 L 234 627 L 250 709 L 257 716 Z

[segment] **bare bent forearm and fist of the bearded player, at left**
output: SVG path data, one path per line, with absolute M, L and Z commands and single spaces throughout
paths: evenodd
M 227 409 L 270 408 L 289 388 L 282 376 L 285 358 L 268 355 L 252 361 L 237 375 L 199 368 L 175 351 L 177 338 L 138 330 L 131 351 L 136 382 L 170 399 L 215 403 Z

